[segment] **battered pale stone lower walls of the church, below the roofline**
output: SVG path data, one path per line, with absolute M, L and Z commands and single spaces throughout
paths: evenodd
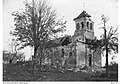
M 70 44 L 72 45 L 72 44 Z M 101 67 L 101 53 L 94 52 L 85 47 L 85 44 L 77 43 L 77 46 L 58 46 L 44 51 L 43 61 L 52 66 L 59 66 L 65 68 L 84 66 Z M 75 52 L 76 48 L 76 52 Z M 64 55 L 62 55 L 62 49 Z M 86 52 L 87 49 L 87 52 Z M 75 55 L 76 53 L 76 55 Z M 90 58 L 91 54 L 91 58 Z M 90 61 L 91 59 L 91 61 Z M 91 63 L 90 63 L 91 62 Z

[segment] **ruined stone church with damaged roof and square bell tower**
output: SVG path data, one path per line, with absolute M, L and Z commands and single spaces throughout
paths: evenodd
M 44 50 L 43 62 L 52 66 L 60 66 L 66 69 L 85 66 L 101 67 L 101 53 L 88 48 L 86 39 L 95 39 L 94 22 L 91 16 L 83 11 L 75 21 L 73 36 L 64 36 L 48 42 Z

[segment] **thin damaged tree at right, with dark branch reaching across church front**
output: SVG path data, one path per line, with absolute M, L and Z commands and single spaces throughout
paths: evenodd
M 102 23 L 104 29 L 104 34 L 101 35 L 101 38 L 98 39 L 86 39 L 85 44 L 89 45 L 89 48 L 94 50 L 100 50 L 101 53 L 105 52 L 106 56 L 106 76 L 108 77 L 108 55 L 113 51 L 114 53 L 118 53 L 118 28 L 114 29 L 114 27 L 106 28 L 106 23 L 109 20 L 108 17 L 104 15 L 101 16 Z

